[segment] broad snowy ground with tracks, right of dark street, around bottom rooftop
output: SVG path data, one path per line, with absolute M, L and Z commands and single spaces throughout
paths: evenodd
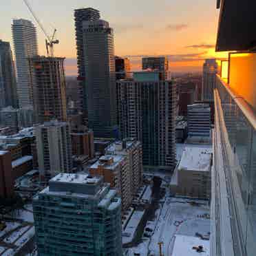
M 129 248 L 128 255 L 159 255 L 158 242 L 163 242 L 163 254 L 171 256 L 175 235 L 195 237 L 195 233 L 200 233 L 209 236 L 210 220 L 206 218 L 209 217 L 209 211 L 208 202 L 204 200 L 165 198 L 162 209 L 156 211 L 155 220 L 148 222 L 146 226 L 151 229 L 155 226 L 153 235 L 150 238 L 143 237 L 143 242 L 136 248 Z

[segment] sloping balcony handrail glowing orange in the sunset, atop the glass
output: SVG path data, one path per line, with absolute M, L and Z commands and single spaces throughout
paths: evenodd
M 220 80 L 222 83 L 223 87 L 226 89 L 226 92 L 233 98 L 239 109 L 242 111 L 248 122 L 250 122 L 250 125 L 252 125 L 253 129 L 256 130 L 256 113 L 253 107 L 251 107 L 246 100 L 242 96 L 239 96 L 233 92 L 231 87 L 226 83 L 225 81 L 222 80 L 220 75 L 216 74 L 217 79 Z

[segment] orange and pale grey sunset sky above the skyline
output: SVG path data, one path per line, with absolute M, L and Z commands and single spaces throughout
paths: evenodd
M 92 7 L 114 28 L 115 54 L 129 56 L 132 70 L 141 57 L 169 56 L 172 72 L 202 70 L 204 58 L 216 56 L 214 45 L 219 11 L 216 0 L 28 0 L 52 34 L 54 54 L 66 57 L 66 74 L 76 75 L 74 9 Z M 0 39 L 12 43 L 12 19 L 30 19 L 38 28 L 39 54 L 45 55 L 45 36 L 23 0 L 1 0 Z M 218 54 L 218 56 L 225 56 Z

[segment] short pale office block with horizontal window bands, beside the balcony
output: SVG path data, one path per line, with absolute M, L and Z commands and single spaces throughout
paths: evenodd
M 189 137 L 210 138 L 211 108 L 209 104 L 197 103 L 188 105 Z

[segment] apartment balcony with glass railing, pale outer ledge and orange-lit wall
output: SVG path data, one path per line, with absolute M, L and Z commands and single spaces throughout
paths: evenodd
M 216 77 L 211 255 L 256 251 L 255 64 L 256 54 L 230 54 Z

